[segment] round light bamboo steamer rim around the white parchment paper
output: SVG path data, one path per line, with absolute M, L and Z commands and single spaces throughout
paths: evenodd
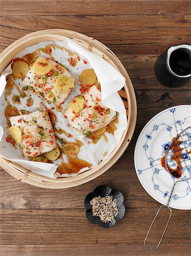
M 120 60 L 108 47 L 104 46 L 104 44 L 100 43 L 94 38 L 88 37 L 78 32 L 70 30 L 42 30 L 33 32 L 24 36 L 23 38 L 20 38 L 19 40 L 16 40 L 16 42 L 12 43 L 9 47 L 7 47 L 5 51 L 3 51 L 0 55 L 0 74 L 7 67 L 7 65 L 9 65 L 10 61 L 14 58 L 14 56 L 17 55 L 19 52 L 23 51 L 23 49 L 26 49 L 33 44 L 37 44 L 43 41 L 63 41 L 65 39 L 72 39 L 74 40 L 74 42 L 80 44 L 80 46 L 89 49 L 90 51 L 103 57 L 110 64 L 112 64 L 113 67 L 118 69 L 118 71 L 120 71 L 121 74 L 125 77 L 126 82 L 124 88 L 118 93 L 124 101 L 126 115 L 128 118 L 128 126 L 121 138 L 120 143 L 113 150 L 112 154 L 108 156 L 107 159 L 103 160 L 103 162 L 101 162 L 91 170 L 83 172 L 82 174 L 74 177 L 49 179 L 47 177 L 33 174 L 26 168 L 23 168 L 18 164 L 12 163 L 9 160 L 0 158 L 0 165 L 6 172 L 8 172 L 10 175 L 18 180 L 31 185 L 35 185 L 36 187 L 50 189 L 70 188 L 86 183 L 103 174 L 111 166 L 113 166 L 114 163 L 116 163 L 116 161 L 125 151 L 126 147 L 128 147 L 130 140 L 133 136 L 137 119 L 137 102 L 133 85 L 131 83 L 128 73 L 126 72 Z

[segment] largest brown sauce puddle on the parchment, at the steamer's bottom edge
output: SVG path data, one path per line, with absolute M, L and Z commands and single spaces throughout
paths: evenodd
M 92 164 L 86 162 L 85 160 L 78 158 L 67 158 L 68 162 L 65 163 L 62 161 L 60 166 L 58 166 L 57 171 L 62 174 L 77 174 L 82 168 L 88 167 L 91 168 Z

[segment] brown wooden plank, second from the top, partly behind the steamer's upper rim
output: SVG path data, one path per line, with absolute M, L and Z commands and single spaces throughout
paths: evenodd
M 138 23 L 136 15 L 5 16 L 0 18 L 0 51 L 29 32 L 64 28 L 100 40 L 117 54 L 159 54 L 172 44 L 190 42 L 190 23 L 183 14 L 172 16 L 142 15 Z

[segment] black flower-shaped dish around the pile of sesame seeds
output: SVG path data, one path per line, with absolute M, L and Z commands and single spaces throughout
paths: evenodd
M 92 205 L 90 204 L 90 202 L 92 199 L 98 196 L 100 197 L 113 196 L 113 199 L 116 199 L 118 214 L 116 217 L 113 218 L 112 221 L 105 223 L 100 220 L 100 217 L 92 215 Z M 91 192 L 86 196 L 84 205 L 87 209 L 86 211 L 87 220 L 90 221 L 92 224 L 98 224 L 102 228 L 111 228 L 114 224 L 116 224 L 116 221 L 121 220 L 121 218 L 123 218 L 125 215 L 124 196 L 120 191 L 116 189 L 112 189 L 107 185 L 100 185 L 96 187 L 94 192 Z

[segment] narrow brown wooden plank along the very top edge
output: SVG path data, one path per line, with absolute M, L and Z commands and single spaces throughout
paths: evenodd
M 133 1 L 133 0 L 1 0 L 0 15 L 150 15 L 150 14 L 176 14 L 189 13 L 189 0 L 169 1 Z M 41 6 L 42 8 L 37 8 Z M 148 8 L 149 6 L 149 8 Z

